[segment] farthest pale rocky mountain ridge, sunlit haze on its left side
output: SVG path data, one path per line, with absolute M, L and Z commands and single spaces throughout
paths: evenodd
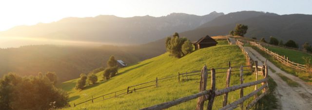
M 194 30 L 223 13 L 212 12 L 205 16 L 172 13 L 167 16 L 96 16 L 69 17 L 57 22 L 18 26 L 0 32 L 0 37 L 19 36 L 57 40 L 95 41 L 115 45 L 144 44 L 173 32 Z

